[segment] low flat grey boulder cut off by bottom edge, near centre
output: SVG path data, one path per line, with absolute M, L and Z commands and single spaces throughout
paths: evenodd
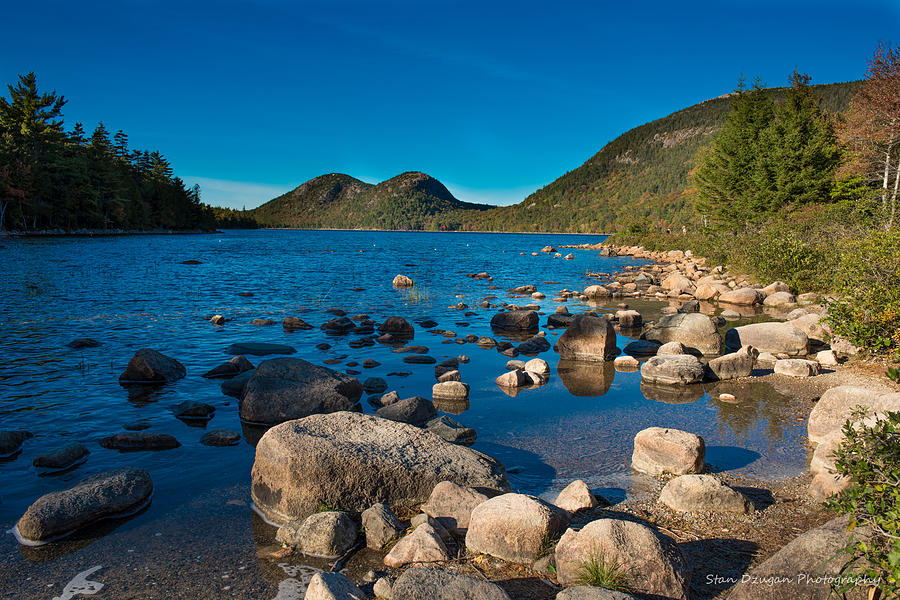
M 394 583 L 391 600 L 509 600 L 499 585 L 439 569 L 407 569 Z

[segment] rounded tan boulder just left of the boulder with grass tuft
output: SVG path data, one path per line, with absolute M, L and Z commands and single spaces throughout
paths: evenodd
M 569 524 L 569 513 L 540 498 L 503 494 L 472 510 L 466 548 L 510 562 L 531 564 Z

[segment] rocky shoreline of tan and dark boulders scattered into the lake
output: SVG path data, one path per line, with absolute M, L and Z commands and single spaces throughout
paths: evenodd
M 808 421 L 815 447 L 808 475 L 771 483 L 714 474 L 700 436 L 660 422 L 633 440 L 631 467 L 656 482 L 650 492 L 615 505 L 581 480 L 570 482 L 553 502 L 516 493 L 500 462 L 468 447 L 476 432 L 437 416 L 439 408 L 467 403 L 470 386 L 460 374 L 468 357 L 437 363 L 422 353 L 427 348 L 406 345 L 417 326 L 436 324 L 414 324 L 400 315 L 378 323 L 334 310 L 321 328 L 365 335 L 351 347 L 386 344 L 408 353 L 411 364 L 433 364 L 432 397 L 400 398 L 378 378 L 360 382 L 284 356 L 294 352 L 289 346 L 229 347 L 234 358 L 204 376 L 224 379 L 223 392 L 240 398 L 244 422 L 268 428 L 256 444 L 250 474 L 254 509 L 277 528 L 276 543 L 261 554 L 327 561 L 330 570 L 308 584 L 308 600 L 828 598 L 835 586 L 850 590 L 850 597 L 890 590 L 893 584 L 877 562 L 890 560 L 891 538 L 884 535 L 889 524 L 878 518 L 878 510 L 863 514 L 854 499 L 864 497 L 873 473 L 895 476 L 884 461 L 869 466 L 866 440 L 893 439 L 900 393 L 889 379 L 866 374 L 853 360 L 842 364 L 858 351 L 830 333 L 820 298 L 795 295 L 798 290 L 782 282 L 756 285 L 689 252 L 589 248 L 653 262 L 593 273 L 596 284 L 556 293 L 560 308 L 546 315 L 546 326 L 565 329 L 555 344 L 560 357 L 598 369 L 612 363 L 618 370 L 640 370 L 642 391 L 661 399 L 689 395 L 698 382 L 714 384 L 711 393 L 725 403 L 741 402 L 742 384 L 754 378 L 787 389 L 797 397 L 798 419 Z M 541 252 L 565 258 L 550 246 Z M 491 279 L 488 273 L 471 277 Z M 406 288 L 415 282 L 398 275 L 385 285 Z M 534 285 L 508 294 L 544 297 Z M 639 298 L 668 306 L 660 318 L 645 322 L 625 304 Z M 569 313 L 562 306 L 569 299 L 584 302 L 587 310 Z M 592 309 L 592 304 L 618 305 L 618 310 Z M 771 320 L 729 325 L 760 307 Z M 544 383 L 549 368 L 537 355 L 551 343 L 539 331 L 536 307 L 487 302 L 481 308 L 495 311 L 494 329 L 524 340 L 514 346 L 486 336 L 460 338 L 513 359 L 496 384 L 513 395 Z M 215 315 L 210 326 L 227 320 Z M 313 326 L 287 317 L 283 327 Z M 638 339 L 620 355 L 616 340 L 623 333 Z M 87 339 L 73 344 L 97 345 Z M 245 356 L 272 354 L 282 356 L 255 366 Z M 517 360 L 519 355 L 530 360 Z M 175 383 L 186 372 L 177 359 L 143 349 L 119 380 L 125 386 Z M 375 414 L 359 411 L 363 392 L 372 394 Z M 187 401 L 174 410 L 178 418 L 202 420 L 215 409 Z M 879 425 L 885 415 L 893 415 L 889 426 Z M 28 438 L 23 431 L 2 432 L 0 450 L 15 457 Z M 214 430 L 203 443 L 227 446 L 239 439 L 236 432 Z M 165 434 L 128 431 L 101 445 L 139 451 L 179 442 Z M 74 444 L 35 464 L 68 468 L 88 454 Z M 146 471 L 123 465 L 37 499 L 14 533 L 22 544 L 52 543 L 101 519 L 142 510 L 152 492 Z M 831 498 L 830 510 L 825 498 Z M 890 498 L 882 492 L 881 501 L 885 506 Z M 871 552 L 843 553 L 861 540 Z M 362 552 L 374 554 L 380 565 L 366 572 L 344 568 Z

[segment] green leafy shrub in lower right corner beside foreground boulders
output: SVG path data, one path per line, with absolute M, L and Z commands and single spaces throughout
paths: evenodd
M 835 468 L 851 484 L 826 502 L 850 515 L 850 528 L 868 527 L 870 538 L 851 536 L 845 548 L 869 579 L 877 579 L 882 598 L 900 595 L 900 412 L 874 424 L 860 424 L 854 414 L 844 424 L 844 443 L 835 451 Z M 853 424 L 857 421 L 857 424 Z M 859 562 L 855 562 L 859 561 Z M 853 587 L 848 583 L 840 592 Z

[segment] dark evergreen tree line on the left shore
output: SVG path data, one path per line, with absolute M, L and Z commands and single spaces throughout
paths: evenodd
M 129 148 L 101 122 L 66 129 L 66 99 L 39 92 L 34 73 L 0 97 L 0 229 L 210 229 L 199 186 L 174 175 L 159 151 Z

